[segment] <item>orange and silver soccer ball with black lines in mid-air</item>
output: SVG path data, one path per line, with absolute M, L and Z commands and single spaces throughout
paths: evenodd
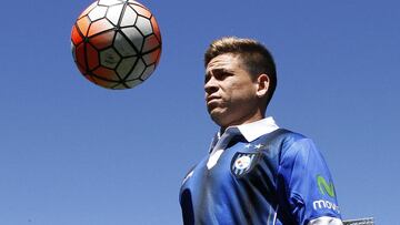
M 97 0 L 77 19 L 71 49 L 79 71 L 107 89 L 131 89 L 154 71 L 161 34 L 154 16 L 133 0 Z

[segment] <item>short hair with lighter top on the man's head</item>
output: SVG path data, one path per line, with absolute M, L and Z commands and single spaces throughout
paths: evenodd
M 247 71 L 257 78 L 267 74 L 270 80 L 267 105 L 272 99 L 277 86 L 277 71 L 272 54 L 269 50 L 254 39 L 242 39 L 237 37 L 223 37 L 214 40 L 204 53 L 204 67 L 220 54 L 238 55 L 247 68 Z

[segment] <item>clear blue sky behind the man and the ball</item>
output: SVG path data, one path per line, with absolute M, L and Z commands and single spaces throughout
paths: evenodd
M 343 217 L 399 223 L 399 1 L 141 2 L 163 52 L 127 91 L 89 83 L 72 61 L 71 27 L 91 1 L 2 2 L 1 225 L 181 224 L 180 183 L 217 130 L 202 54 L 222 35 L 271 49 L 268 114 L 314 140 Z

